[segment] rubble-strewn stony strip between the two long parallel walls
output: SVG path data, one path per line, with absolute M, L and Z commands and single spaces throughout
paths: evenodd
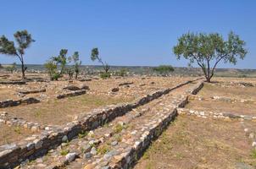
M 24 163 L 21 168 L 82 168 L 84 166 L 98 168 L 111 166 L 121 153 L 140 139 L 145 129 L 152 127 L 166 113 L 175 109 L 177 99 L 184 99 L 186 91 L 195 83 L 184 85 L 163 95 L 144 106 L 139 106 L 122 117 L 116 117 L 111 123 L 105 124 L 89 133 L 80 134 L 71 140 L 51 150 L 47 155 L 35 161 Z M 175 113 L 173 114 L 175 116 Z M 144 129 L 143 129 L 144 128 Z M 75 155 L 75 161 L 65 165 L 67 155 Z

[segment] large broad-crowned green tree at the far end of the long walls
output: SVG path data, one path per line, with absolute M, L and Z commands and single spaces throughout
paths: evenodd
M 230 32 L 226 41 L 218 33 L 186 33 L 178 39 L 173 52 L 178 59 L 184 57 L 191 64 L 197 63 L 206 81 L 210 82 L 218 63 L 223 61 L 236 64 L 237 59 L 243 59 L 248 51 L 245 49 L 245 41 Z

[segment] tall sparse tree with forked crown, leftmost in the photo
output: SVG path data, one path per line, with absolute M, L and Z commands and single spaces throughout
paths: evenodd
M 14 46 L 14 41 L 8 41 L 8 38 L 4 35 L 0 37 L 0 53 L 19 58 L 21 63 L 22 79 L 25 79 L 25 49 L 31 46 L 31 43 L 35 40 L 32 39 L 31 34 L 29 34 L 27 30 L 17 31 L 14 34 L 14 38 L 18 44 L 17 47 Z

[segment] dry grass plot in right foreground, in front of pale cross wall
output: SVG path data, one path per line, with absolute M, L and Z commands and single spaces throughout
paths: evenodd
M 251 154 L 239 122 L 179 116 L 135 168 L 235 168 L 241 164 L 256 167 Z

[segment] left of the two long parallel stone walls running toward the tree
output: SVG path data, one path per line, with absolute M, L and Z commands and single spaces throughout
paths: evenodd
M 44 130 L 41 134 L 32 135 L 31 137 L 22 140 L 17 144 L 0 146 L 0 168 L 14 167 L 26 159 L 33 160 L 38 156 L 45 155 L 48 150 L 52 150 L 59 144 L 73 139 L 78 134 L 81 134 L 81 132 L 90 131 L 103 125 L 104 123 L 108 123 L 115 117 L 122 116 L 137 106 L 142 106 L 149 101 L 159 98 L 161 95 L 168 94 L 171 90 L 175 90 L 191 82 L 192 81 L 188 81 L 171 89 L 153 92 L 152 94 L 145 95 L 141 99 L 132 103 L 117 106 L 107 106 L 103 109 L 95 109 L 92 112 L 81 114 L 81 116 L 78 118 L 80 119 L 79 121 L 67 123 L 64 126 L 53 128 L 48 131 Z M 185 102 L 181 101 L 181 104 L 185 104 Z M 166 118 L 164 123 L 165 121 L 168 123 L 170 119 L 168 120 Z M 159 129 L 162 131 L 162 127 Z

